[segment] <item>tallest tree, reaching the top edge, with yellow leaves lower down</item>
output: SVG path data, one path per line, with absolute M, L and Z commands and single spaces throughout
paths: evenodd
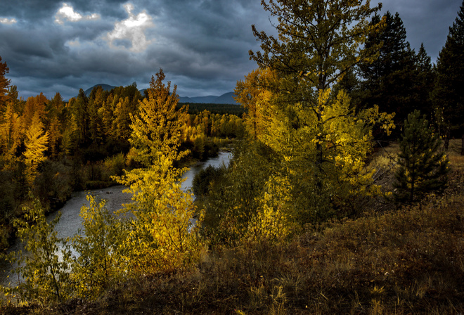
M 383 20 L 369 23 L 380 7 L 348 0 L 262 4 L 277 20 L 278 37 L 253 26 L 262 51 L 250 51 L 250 56 L 278 78 L 266 86 L 273 92 L 273 118 L 262 141 L 283 161 L 281 176 L 273 179 L 281 184 L 269 185 L 268 193 L 287 187 L 284 191 L 294 197 L 299 209 L 295 215 L 302 221 L 324 219 L 334 209 L 346 215 L 342 209 L 352 199 L 348 196 L 364 192 L 370 181 L 369 174 L 362 174 L 371 148 L 370 128 L 390 117 L 375 107 L 356 115 L 347 94 L 335 94 L 333 87 L 361 61 L 375 59 L 380 44 L 364 44 L 382 28 Z M 268 206 L 278 209 L 282 204 Z

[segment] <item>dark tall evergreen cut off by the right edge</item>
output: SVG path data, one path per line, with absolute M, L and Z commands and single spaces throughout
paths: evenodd
M 446 44 L 437 60 L 437 82 L 434 89 L 434 108 L 440 134 L 464 134 L 464 1 L 458 17 L 449 28 Z

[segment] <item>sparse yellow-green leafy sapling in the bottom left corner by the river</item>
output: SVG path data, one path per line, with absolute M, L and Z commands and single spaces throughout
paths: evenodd
M 15 221 L 17 236 L 25 243 L 25 252 L 11 252 L 6 259 L 15 264 L 18 285 L 3 288 L 11 298 L 41 304 L 67 300 L 70 296 L 69 268 L 71 251 L 67 241 L 54 231 L 60 219 L 48 222 L 44 208 L 35 200 L 32 207 L 23 209 L 24 220 Z

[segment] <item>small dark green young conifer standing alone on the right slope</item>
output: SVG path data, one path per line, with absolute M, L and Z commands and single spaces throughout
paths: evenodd
M 395 198 L 413 202 L 425 193 L 443 191 L 448 160 L 442 151 L 442 141 L 429 127 L 429 122 L 415 110 L 404 121 L 404 133 L 399 142 L 399 169 L 395 173 Z

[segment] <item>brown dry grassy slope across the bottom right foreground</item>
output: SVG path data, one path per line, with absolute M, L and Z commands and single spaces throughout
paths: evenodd
M 446 194 L 420 205 L 205 252 L 193 270 L 125 283 L 96 302 L 11 314 L 462 313 L 464 157 L 451 149 Z

